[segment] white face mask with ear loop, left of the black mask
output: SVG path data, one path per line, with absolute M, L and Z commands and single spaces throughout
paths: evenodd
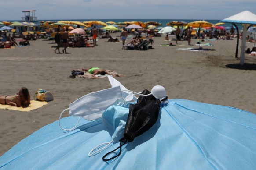
M 63 110 L 59 116 L 59 126 L 61 127 L 60 119 L 66 110 L 69 110 L 69 115 L 79 117 L 78 124 L 81 117 L 89 121 L 101 118 L 102 113 L 111 105 L 121 106 L 132 100 L 137 101 L 132 92 L 123 91 L 127 89 L 119 81 L 112 76 L 108 76 L 108 78 L 112 88 L 92 92 L 69 104 L 69 108 Z M 76 127 L 77 125 L 71 129 L 61 128 L 70 131 Z

